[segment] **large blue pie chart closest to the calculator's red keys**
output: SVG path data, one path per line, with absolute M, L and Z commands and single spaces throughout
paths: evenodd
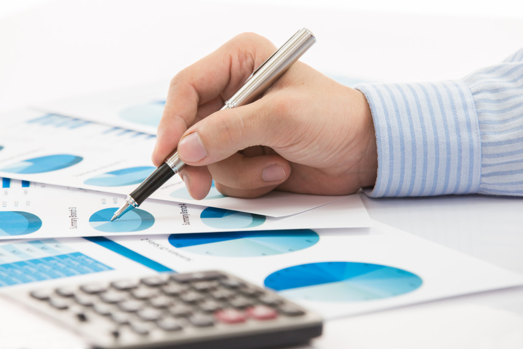
M 320 262 L 291 266 L 265 278 L 265 286 L 291 299 L 358 302 L 406 294 L 423 280 L 379 264 Z

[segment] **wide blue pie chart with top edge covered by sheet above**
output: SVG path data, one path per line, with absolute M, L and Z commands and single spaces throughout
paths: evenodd
M 171 234 L 169 243 L 190 253 L 222 257 L 257 257 L 289 253 L 320 240 L 310 229 Z

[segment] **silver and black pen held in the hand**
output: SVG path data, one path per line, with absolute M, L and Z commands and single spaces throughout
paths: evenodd
M 296 32 L 282 47 L 257 67 L 243 86 L 225 101 L 225 105 L 220 110 L 232 109 L 251 102 L 254 97 L 264 92 L 278 77 L 285 73 L 315 42 L 313 33 L 308 29 L 303 28 Z M 138 188 L 127 196 L 122 207 L 112 216 L 111 221 L 140 206 L 146 198 L 167 182 L 170 177 L 180 172 L 184 166 L 185 163 L 180 160 L 178 152 L 173 151 L 162 165 L 156 168 Z

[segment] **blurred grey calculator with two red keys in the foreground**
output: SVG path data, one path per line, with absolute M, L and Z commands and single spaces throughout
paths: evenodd
M 221 271 L 163 273 L 13 292 L 8 297 L 97 349 L 249 349 L 321 335 L 316 314 Z

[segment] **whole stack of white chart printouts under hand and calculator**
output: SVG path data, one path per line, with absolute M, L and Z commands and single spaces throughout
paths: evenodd
M 373 222 L 358 195 L 238 199 L 213 187 L 196 201 L 175 176 L 111 222 L 154 170 L 164 98 L 143 86 L 0 117 L 0 293 L 223 269 L 332 319 L 523 284 Z

